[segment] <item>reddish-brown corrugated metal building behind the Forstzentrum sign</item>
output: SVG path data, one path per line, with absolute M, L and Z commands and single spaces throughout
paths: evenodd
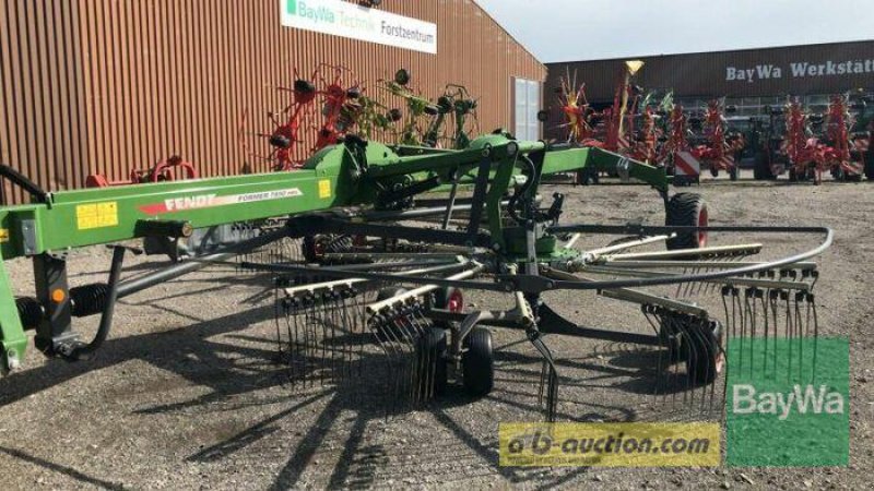
M 90 173 L 123 179 L 174 154 L 205 176 L 238 173 L 247 154 L 269 153 L 251 133 L 272 130 L 267 111 L 287 105 L 275 87 L 321 62 L 365 84 L 406 68 L 432 98 L 460 83 L 484 132 L 536 128 L 527 100 L 539 105 L 546 70 L 474 1 L 378 7 L 436 24 L 437 55 L 283 26 L 290 3 L 0 0 L 0 160 L 49 190 Z M 8 183 L 0 193 L 25 199 Z

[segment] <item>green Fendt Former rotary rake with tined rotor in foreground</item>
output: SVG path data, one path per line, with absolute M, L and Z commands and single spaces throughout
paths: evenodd
M 559 224 L 567 200 L 555 193 L 542 204 L 541 178 L 592 166 L 651 184 L 666 206 L 665 225 Z M 28 331 L 46 356 L 87 359 L 109 336 L 119 299 L 231 263 L 274 277 L 276 335 L 293 380 L 336 383 L 358 373 L 357 367 L 383 370 L 379 380 L 398 406 L 422 404 L 451 381 L 482 396 L 495 384 L 485 326 L 518 328 L 542 358 L 550 420 L 560 375 L 551 336 L 659 348 L 657 390 L 709 387 L 712 399 L 725 339 L 817 333 L 812 288 L 818 274 L 807 260 L 831 242 L 831 231 L 822 227 L 711 227 L 700 196 L 669 195 L 663 169 L 600 148 L 503 134 L 475 139 L 461 151 L 389 147 L 347 135 L 295 172 L 57 193 L 0 168 L 32 195 L 32 204 L 0 208 L 0 253 L 4 260 L 29 258 L 36 285 L 34 297 L 14 298 L 0 261 L 3 370 L 22 367 Z M 119 242 L 184 239 L 215 227 L 247 232 L 212 253 L 121 278 L 131 248 Z M 777 258 L 763 243 L 714 243 L 725 233 L 747 240 L 803 235 L 810 243 Z M 579 246 L 600 236 L 618 239 Z M 99 244 L 114 244 L 108 280 L 70 287 L 68 252 Z M 654 250 L 659 244 L 668 250 Z M 764 259 L 747 259 L 757 254 Z M 505 296 L 513 307 L 465 307 L 461 290 Z M 630 303 L 651 333 L 593 328 L 588 313 L 565 319 L 544 297 L 560 290 Z M 693 300 L 713 294 L 721 312 Z M 73 318 L 91 315 L 101 315 L 99 327 L 85 343 Z M 367 359 L 379 363 L 363 363 Z M 359 385 L 369 378 L 353 380 Z

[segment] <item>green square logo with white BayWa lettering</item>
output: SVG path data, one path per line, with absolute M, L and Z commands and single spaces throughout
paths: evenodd
M 728 465 L 849 463 L 846 338 L 730 338 L 728 346 Z

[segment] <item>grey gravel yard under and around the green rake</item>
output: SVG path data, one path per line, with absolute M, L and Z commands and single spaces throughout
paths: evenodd
M 744 176 L 745 178 L 747 176 Z M 663 219 L 641 185 L 570 188 L 563 218 L 624 223 Z M 872 466 L 871 283 L 874 184 L 822 187 L 742 180 L 700 189 L 711 223 L 828 225 L 835 246 L 819 259 L 820 332 L 851 342 L 851 462 L 837 469 L 517 469 L 497 466 L 499 421 L 534 421 L 540 364 L 520 332 L 495 330 L 496 388 L 472 400 L 450 395 L 386 418 L 369 390 L 292 387 L 275 355 L 272 300 L 263 277 L 212 268 L 125 299 L 111 339 L 95 359 L 69 364 L 31 351 L 26 369 L 0 380 L 0 476 L 4 489 L 286 489 L 344 487 L 852 488 Z M 731 239 L 731 240 L 729 240 Z M 725 238 L 725 241 L 758 238 Z M 771 237 L 768 255 L 813 246 Z M 588 242 L 587 242 L 588 243 Z M 591 241 L 590 243 L 600 243 Z M 128 274 L 145 271 L 131 261 Z M 79 251 L 74 284 L 101 280 L 109 253 Z M 32 291 L 29 264 L 13 283 Z M 469 295 L 470 303 L 506 306 Z M 588 294 L 548 297 L 592 325 L 642 328 L 633 308 Z M 95 320 L 80 322 L 85 335 Z M 563 420 L 648 419 L 663 409 L 648 395 L 651 357 L 629 346 L 555 336 L 562 359 Z M 363 379 L 363 380 L 362 380 Z M 369 387 L 363 376 L 344 385 Z M 452 391 L 457 393 L 458 391 Z M 681 409 L 682 410 L 682 409 Z

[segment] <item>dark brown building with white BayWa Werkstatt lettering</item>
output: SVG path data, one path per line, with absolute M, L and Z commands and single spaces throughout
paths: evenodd
M 754 115 L 792 95 L 804 97 L 813 110 L 822 110 L 831 94 L 858 88 L 874 92 L 871 40 L 547 63 L 545 105 L 552 106 L 547 135 L 558 136 L 560 132 L 555 129 L 560 115 L 554 95 L 560 77 L 576 74 L 578 82 L 586 83 L 590 103 L 607 104 L 613 100 L 627 59 L 646 62 L 636 77 L 637 85 L 673 91 L 689 109 L 704 108 L 713 97 L 727 97 L 740 113 Z

